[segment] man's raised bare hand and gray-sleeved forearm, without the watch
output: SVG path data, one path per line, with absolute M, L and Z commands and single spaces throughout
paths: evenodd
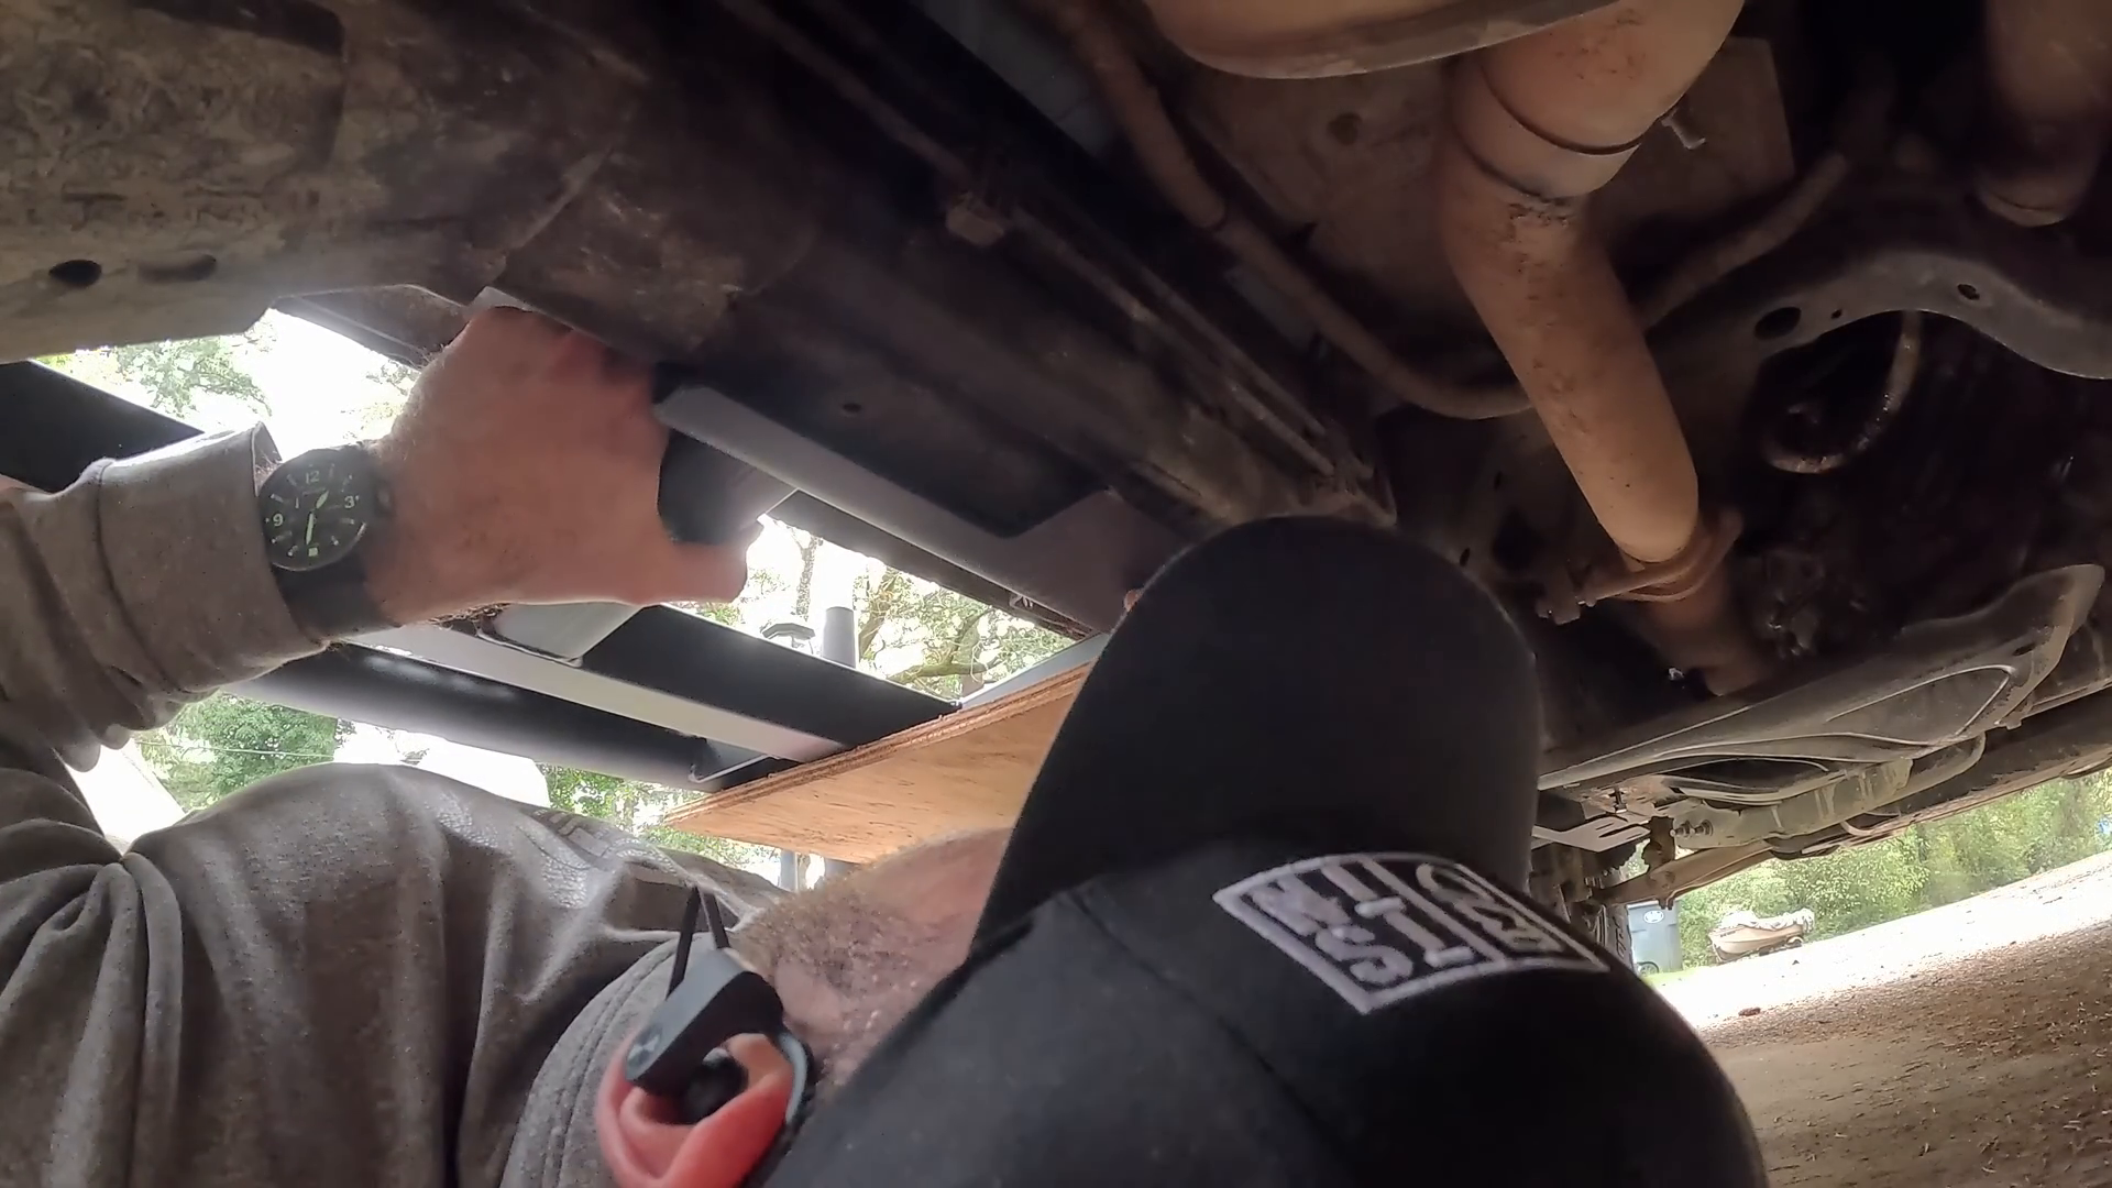
M 733 598 L 748 539 L 667 535 L 665 450 L 644 366 L 484 311 L 376 444 L 393 512 L 361 543 L 367 592 L 393 621 Z M 59 495 L 0 495 L 0 772 L 89 761 L 116 731 L 317 651 L 264 556 L 256 486 L 277 459 L 260 452 L 262 431 L 222 435 L 101 463 Z

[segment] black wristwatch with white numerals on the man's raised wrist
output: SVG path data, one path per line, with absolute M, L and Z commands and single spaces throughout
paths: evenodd
M 264 556 L 294 621 L 315 638 L 395 626 L 367 592 L 361 545 L 389 518 L 389 486 L 365 446 L 308 450 L 258 486 Z

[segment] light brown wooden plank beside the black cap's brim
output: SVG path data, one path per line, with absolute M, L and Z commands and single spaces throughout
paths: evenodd
M 851 862 L 1012 824 L 1088 668 L 714 793 L 670 814 L 667 824 Z

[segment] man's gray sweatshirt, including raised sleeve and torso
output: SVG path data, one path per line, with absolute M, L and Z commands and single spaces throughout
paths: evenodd
M 120 854 L 59 757 L 317 649 L 262 435 L 0 495 L 0 1175 L 606 1184 L 593 1089 L 691 884 L 767 881 L 408 767 L 264 780 Z

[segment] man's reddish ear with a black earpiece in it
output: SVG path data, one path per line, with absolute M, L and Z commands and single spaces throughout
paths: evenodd
M 739 1188 L 771 1150 L 792 1103 L 792 1065 L 762 1036 L 735 1036 L 727 1053 L 748 1087 L 697 1122 L 676 1101 L 623 1080 L 623 1053 L 602 1072 L 593 1131 L 619 1188 Z

